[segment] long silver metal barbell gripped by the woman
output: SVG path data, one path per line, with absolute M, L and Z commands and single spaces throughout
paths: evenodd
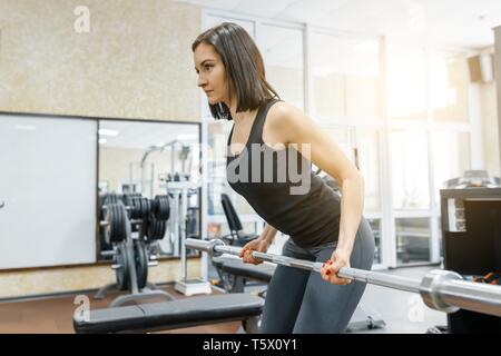
M 222 240 L 200 240 L 188 238 L 185 246 L 208 253 L 210 256 L 229 254 L 238 256 L 242 248 L 226 246 Z M 320 273 L 322 263 L 296 259 L 287 256 L 253 251 L 253 257 L 282 266 Z M 454 313 L 466 309 L 501 317 L 501 286 L 464 280 L 455 271 L 435 269 L 422 279 L 393 276 L 384 273 L 342 267 L 338 277 L 360 280 L 382 287 L 418 293 L 430 308 Z

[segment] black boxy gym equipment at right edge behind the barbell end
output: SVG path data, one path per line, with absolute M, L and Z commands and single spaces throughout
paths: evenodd
M 501 275 L 501 188 L 463 185 L 458 181 L 460 188 L 440 190 L 444 268 L 468 280 L 489 283 L 482 276 Z M 448 315 L 448 329 L 453 334 L 501 333 L 501 318 L 460 310 Z

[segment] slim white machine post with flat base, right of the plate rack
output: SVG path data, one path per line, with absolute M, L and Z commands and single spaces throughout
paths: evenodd
M 188 279 L 188 265 L 187 265 L 187 253 L 186 253 L 186 222 L 187 222 L 187 210 L 188 210 L 188 191 L 193 189 L 198 189 L 199 184 L 191 181 L 168 181 L 165 187 L 169 195 L 174 196 L 175 207 L 177 209 L 177 225 L 179 227 L 179 240 L 180 240 L 180 255 L 181 255 L 181 278 L 176 281 L 174 288 L 186 295 L 191 296 L 196 294 L 212 294 L 210 284 L 202 279 Z M 176 231 L 177 233 L 177 231 Z

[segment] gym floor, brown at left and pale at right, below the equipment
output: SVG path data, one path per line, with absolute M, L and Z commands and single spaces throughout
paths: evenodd
M 410 267 L 389 270 L 389 274 L 421 277 L 426 271 L 438 267 Z M 186 298 L 177 293 L 171 285 L 161 289 L 170 293 L 175 298 Z M 263 289 L 263 287 L 249 287 L 249 289 Z M 218 294 L 217 289 L 214 289 Z M 117 293 L 110 293 L 102 300 L 94 300 L 94 293 L 87 293 L 91 308 L 105 308 L 117 297 Z M 72 313 L 75 296 L 30 299 L 22 301 L 0 303 L 0 334 L 40 333 L 40 334 L 72 334 Z M 154 301 L 161 301 L 151 299 Z M 443 313 L 432 310 L 423 305 L 419 296 L 367 285 L 361 300 L 361 307 L 369 315 L 382 318 L 386 327 L 360 333 L 377 334 L 424 334 L 428 328 L 436 325 L 445 325 L 446 316 Z M 161 332 L 163 334 L 234 334 L 239 329 L 240 323 L 223 323 L 204 325 L 190 328 Z

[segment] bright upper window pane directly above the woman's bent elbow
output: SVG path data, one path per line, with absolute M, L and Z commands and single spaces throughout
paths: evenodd
M 321 118 L 380 118 L 380 43 L 314 32 L 312 113 Z

